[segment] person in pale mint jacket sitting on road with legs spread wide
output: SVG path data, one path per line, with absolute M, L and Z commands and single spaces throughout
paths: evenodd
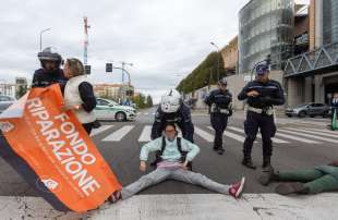
M 123 187 L 122 191 L 114 192 L 108 200 L 116 203 L 119 199 L 126 199 L 148 186 L 158 184 L 169 179 L 182 181 L 193 185 L 200 185 L 210 191 L 239 198 L 243 191 L 245 178 L 242 178 L 239 183 L 224 185 L 206 178 L 201 173 L 188 170 L 188 163 L 200 152 L 200 148 L 195 144 L 192 144 L 184 138 L 180 138 L 182 150 L 188 151 L 186 156 L 182 158 L 182 155 L 178 149 L 177 143 L 179 142 L 179 137 L 177 136 L 177 133 L 176 125 L 169 123 L 165 126 L 164 137 L 156 138 L 144 145 L 140 155 L 140 170 L 143 172 L 146 170 L 146 161 L 149 152 L 160 150 L 161 161 L 157 163 L 157 169 L 146 175 L 143 175 L 136 182 Z M 166 142 L 165 147 L 162 147 L 162 140 Z

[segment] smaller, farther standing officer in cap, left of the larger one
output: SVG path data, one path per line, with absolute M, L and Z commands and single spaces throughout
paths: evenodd
M 218 82 L 218 89 L 213 90 L 205 99 L 209 106 L 210 122 L 215 130 L 214 150 L 222 155 L 222 135 L 227 129 L 228 118 L 232 114 L 232 95 L 227 89 L 228 82 L 222 78 Z

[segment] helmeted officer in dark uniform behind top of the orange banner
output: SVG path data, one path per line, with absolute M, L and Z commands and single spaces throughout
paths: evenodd
M 45 48 L 37 57 L 41 63 L 41 69 L 35 71 L 32 87 L 47 87 L 58 83 L 63 90 L 67 78 L 60 69 L 62 57 L 51 47 Z

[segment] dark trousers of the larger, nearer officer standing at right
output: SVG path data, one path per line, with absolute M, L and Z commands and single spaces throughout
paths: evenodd
M 253 143 L 256 139 L 258 129 L 262 134 L 263 157 L 269 158 L 273 155 L 271 137 L 276 134 L 276 125 L 274 115 L 261 114 L 248 111 L 246 120 L 244 121 L 244 131 L 246 138 L 243 145 L 244 158 L 251 158 Z

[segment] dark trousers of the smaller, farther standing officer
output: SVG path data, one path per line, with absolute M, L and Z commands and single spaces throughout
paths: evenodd
M 214 149 L 222 149 L 222 136 L 228 125 L 228 114 L 225 113 L 212 113 L 210 114 L 212 126 L 215 130 Z

